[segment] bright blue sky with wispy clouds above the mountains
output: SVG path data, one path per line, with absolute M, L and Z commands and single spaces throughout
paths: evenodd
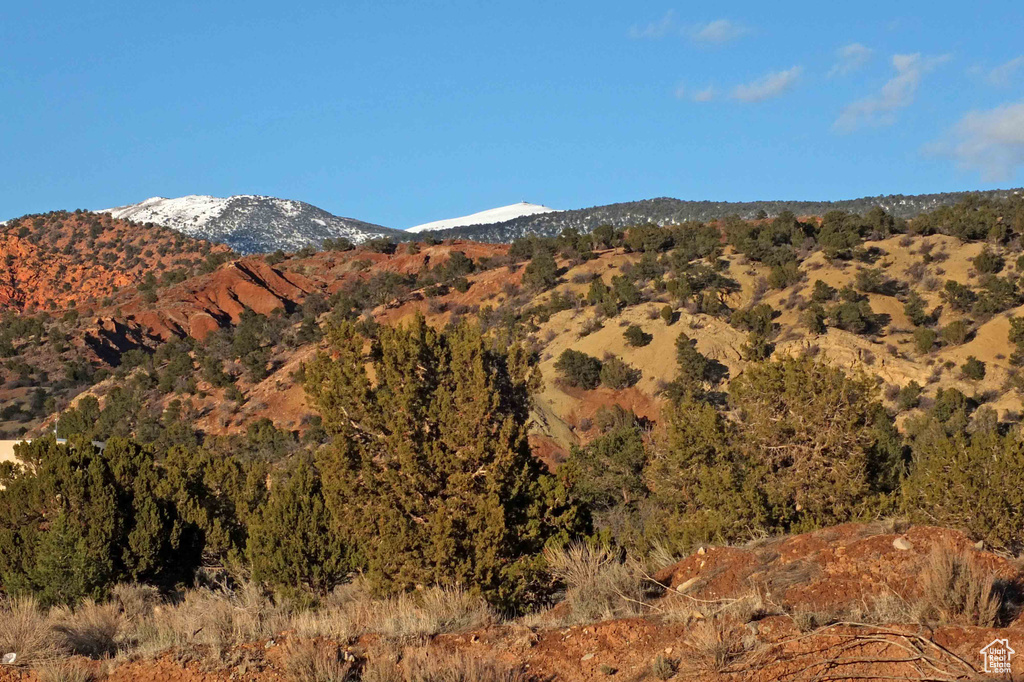
M 1024 3 L 7 2 L 0 218 L 1024 185 Z

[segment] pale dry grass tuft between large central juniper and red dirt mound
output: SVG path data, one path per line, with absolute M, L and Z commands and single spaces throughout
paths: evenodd
M 636 561 L 621 561 L 605 547 L 585 544 L 545 551 L 545 558 L 552 573 L 567 586 L 568 622 L 632 617 L 647 610 L 648 581 Z

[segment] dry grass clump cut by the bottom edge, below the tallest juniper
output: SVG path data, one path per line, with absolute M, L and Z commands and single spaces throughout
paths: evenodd
M 527 682 L 518 667 L 466 653 L 406 649 L 397 656 L 375 658 L 362 671 L 362 682 Z

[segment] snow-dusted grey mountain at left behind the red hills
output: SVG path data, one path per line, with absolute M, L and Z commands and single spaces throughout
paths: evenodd
M 342 218 L 303 202 L 256 195 L 154 197 L 100 213 L 164 225 L 189 237 L 226 244 L 239 253 L 295 251 L 339 237 L 355 244 L 379 237 L 408 239 L 400 229 Z

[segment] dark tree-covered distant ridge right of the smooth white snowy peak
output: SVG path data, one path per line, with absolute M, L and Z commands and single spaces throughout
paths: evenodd
M 529 235 L 553 237 L 566 227 L 574 227 L 581 232 L 589 232 L 602 224 L 610 224 L 615 227 L 626 227 L 644 222 L 670 225 L 688 220 L 715 220 L 729 215 L 755 218 L 761 211 L 767 213 L 768 216 L 776 216 L 782 211 L 791 211 L 797 215 L 823 215 L 834 210 L 865 213 L 876 206 L 881 206 L 895 217 L 911 218 L 940 206 L 952 206 L 968 197 L 1004 199 L 1022 191 L 1024 189 L 1018 188 L 990 191 L 947 191 L 913 196 L 888 195 L 839 202 L 690 202 L 662 198 L 527 215 L 489 225 L 454 227 L 432 233 L 438 239 L 468 239 L 479 242 L 505 243 Z

